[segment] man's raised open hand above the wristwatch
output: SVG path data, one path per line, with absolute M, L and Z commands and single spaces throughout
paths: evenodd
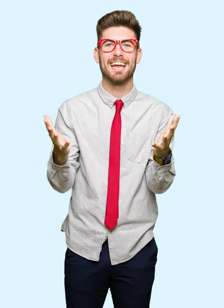
M 174 135 L 174 131 L 177 128 L 180 115 L 177 115 L 176 120 L 174 121 L 176 114 L 172 114 L 167 122 L 167 128 L 161 133 L 157 142 L 153 142 L 153 152 L 155 156 L 159 158 L 164 158 L 166 153 L 169 151 L 170 141 Z

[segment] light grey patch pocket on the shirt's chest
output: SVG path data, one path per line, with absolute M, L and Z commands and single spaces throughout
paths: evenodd
M 128 135 L 128 159 L 140 163 L 149 159 L 152 150 L 152 132 L 129 133 Z

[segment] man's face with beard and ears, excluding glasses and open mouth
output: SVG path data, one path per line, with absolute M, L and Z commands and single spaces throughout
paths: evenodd
M 126 27 L 111 27 L 103 32 L 101 39 L 110 38 L 112 40 L 124 40 L 133 38 L 136 39 L 135 33 L 133 30 Z M 103 77 L 108 79 L 114 84 L 122 84 L 132 78 L 136 63 L 140 62 L 142 55 L 141 49 L 137 49 L 137 46 L 133 52 L 123 51 L 119 44 L 111 52 L 103 52 L 101 49 L 98 50 L 96 47 L 94 49 L 94 58 L 96 63 L 99 63 L 99 67 Z M 115 67 L 111 66 L 112 62 L 124 62 L 126 63 L 125 67 Z

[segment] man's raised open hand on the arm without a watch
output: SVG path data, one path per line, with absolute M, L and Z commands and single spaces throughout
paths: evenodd
M 48 115 L 44 115 L 44 123 L 49 132 L 49 136 L 54 144 L 53 157 L 54 163 L 56 165 L 64 165 L 67 162 L 68 155 L 70 152 L 69 141 L 66 141 L 65 138 L 54 128 L 53 122 Z

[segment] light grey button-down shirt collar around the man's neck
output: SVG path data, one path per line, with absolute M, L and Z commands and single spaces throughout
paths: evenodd
M 124 108 L 126 108 L 136 97 L 137 95 L 137 89 L 135 87 L 135 85 L 133 85 L 132 90 L 126 94 L 123 98 L 117 99 L 115 98 L 113 95 L 111 95 L 110 93 L 108 93 L 102 85 L 102 81 L 100 82 L 100 84 L 97 87 L 98 93 L 101 97 L 101 99 L 108 104 L 111 108 L 113 107 L 113 104 L 116 100 L 121 100 L 124 103 Z

